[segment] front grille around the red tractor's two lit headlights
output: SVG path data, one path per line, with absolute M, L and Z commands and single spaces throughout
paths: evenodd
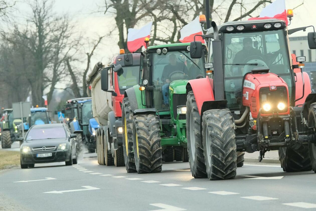
M 276 90 L 270 90 L 270 87 L 263 87 L 259 92 L 260 105 L 263 106 L 265 102 L 271 105 L 271 110 L 266 112 L 262 109 L 263 114 L 277 112 L 286 112 L 288 110 L 288 93 L 284 86 L 277 86 Z M 277 105 L 279 102 L 283 102 L 286 106 L 284 110 L 278 110 Z

